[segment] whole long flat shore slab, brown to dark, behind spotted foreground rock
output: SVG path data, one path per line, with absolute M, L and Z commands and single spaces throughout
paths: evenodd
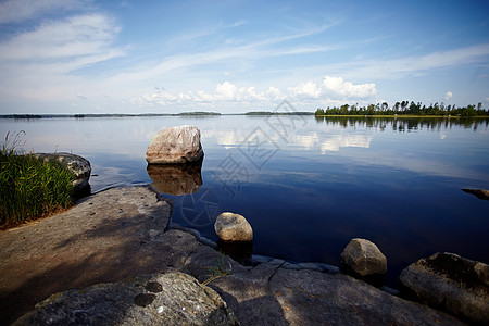
M 147 187 L 109 189 L 72 210 L 0 233 L 0 324 L 51 294 L 143 274 L 208 280 L 222 255 L 168 229 L 171 206 Z M 242 266 L 209 284 L 241 325 L 463 325 L 343 274 L 291 269 L 278 260 Z

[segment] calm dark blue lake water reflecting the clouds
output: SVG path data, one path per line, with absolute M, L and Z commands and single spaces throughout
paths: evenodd
M 179 125 L 201 130 L 201 171 L 147 171 L 151 137 Z M 20 130 L 25 150 L 88 159 L 92 192 L 153 183 L 175 203 L 173 223 L 211 240 L 217 214 L 242 214 L 256 255 L 339 265 L 350 239 L 365 238 L 387 256 L 390 286 L 439 251 L 489 262 L 489 201 L 462 191 L 489 188 L 488 120 L 0 118 L 2 138 Z

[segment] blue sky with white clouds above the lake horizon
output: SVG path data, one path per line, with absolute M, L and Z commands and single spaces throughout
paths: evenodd
M 0 114 L 489 109 L 488 1 L 0 1 Z

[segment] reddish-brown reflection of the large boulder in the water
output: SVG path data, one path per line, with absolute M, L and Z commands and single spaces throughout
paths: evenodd
M 202 160 L 190 164 L 149 164 L 148 175 L 162 193 L 189 195 L 202 186 Z

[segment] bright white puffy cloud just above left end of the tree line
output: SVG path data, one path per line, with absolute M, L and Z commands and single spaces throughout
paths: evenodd
M 365 99 L 377 93 L 375 84 L 352 84 L 341 77 L 325 76 L 323 87 L 330 98 Z

